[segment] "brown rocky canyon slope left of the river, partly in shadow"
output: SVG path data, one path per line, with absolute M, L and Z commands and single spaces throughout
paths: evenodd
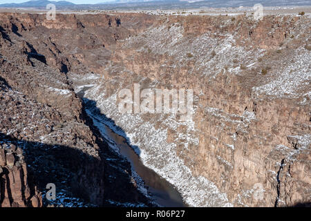
M 39 16 L 0 17 L 0 206 L 152 205 L 129 162 L 86 115 L 66 76 L 67 59 L 50 63 L 50 54 L 28 41 L 35 40 L 30 30 L 43 28 Z M 50 38 L 41 39 L 59 52 Z M 48 183 L 57 188 L 52 202 L 45 198 Z

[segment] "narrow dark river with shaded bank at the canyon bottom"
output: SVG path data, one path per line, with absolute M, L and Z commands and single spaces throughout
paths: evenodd
M 102 137 L 109 143 L 112 148 L 115 147 L 120 150 L 120 154 L 126 157 L 131 163 L 132 170 L 135 171 L 140 178 L 144 181 L 144 185 L 147 186 L 148 192 L 156 202 L 156 204 L 164 207 L 185 207 L 188 206 L 183 200 L 180 193 L 176 188 L 158 175 L 155 171 L 144 166 L 140 157 L 130 144 L 126 141 L 126 138 L 115 133 L 107 124 L 107 118 L 105 115 L 98 113 L 98 109 L 94 106 L 95 102 L 86 102 L 88 99 L 83 98 L 84 91 L 88 90 L 88 87 L 82 89 L 77 95 L 84 99 L 86 104 L 86 113 L 96 126 Z M 90 105 L 91 104 L 91 105 Z

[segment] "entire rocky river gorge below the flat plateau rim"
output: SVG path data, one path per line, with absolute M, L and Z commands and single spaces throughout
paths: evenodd
M 310 16 L 56 18 L 0 13 L 0 206 L 310 204 Z M 193 115 L 121 113 L 135 85 Z

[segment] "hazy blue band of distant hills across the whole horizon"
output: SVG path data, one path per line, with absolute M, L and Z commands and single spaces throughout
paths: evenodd
M 87 1 L 86 1 L 87 2 Z M 258 0 L 109 0 L 97 4 L 74 4 L 69 1 L 37 0 L 25 3 L 0 4 L 0 8 L 45 8 L 53 3 L 64 10 L 169 10 L 191 8 L 252 7 Z M 310 6 L 310 0 L 261 0 L 263 6 Z

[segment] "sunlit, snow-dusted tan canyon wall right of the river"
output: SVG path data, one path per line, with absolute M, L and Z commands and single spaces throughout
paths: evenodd
M 308 23 L 304 17 L 160 20 L 120 42 L 86 96 L 192 206 L 308 203 Z M 193 89 L 193 119 L 118 113 L 118 92 L 135 83 L 141 90 Z

